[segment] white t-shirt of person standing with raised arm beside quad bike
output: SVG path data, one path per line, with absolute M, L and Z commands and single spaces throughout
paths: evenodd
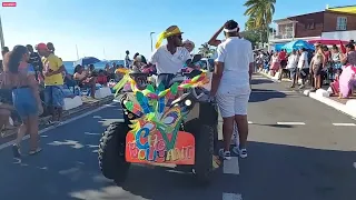
M 228 38 L 217 48 L 217 62 L 224 62 L 219 92 L 249 89 L 249 63 L 254 62 L 251 42 L 238 37 Z

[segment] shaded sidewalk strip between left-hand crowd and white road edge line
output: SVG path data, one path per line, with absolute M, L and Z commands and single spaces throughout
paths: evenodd
M 89 99 L 89 98 L 86 98 L 86 97 L 82 97 L 81 99 L 83 101 L 82 106 L 77 107 L 77 108 L 71 109 L 71 110 L 63 111 L 63 120 L 72 118 L 72 117 L 78 116 L 78 114 L 81 114 L 83 112 L 88 112 L 88 111 L 90 111 L 92 109 L 101 107 L 102 104 L 110 103 L 112 101 L 112 99 L 113 99 L 113 96 L 106 97 L 106 98 L 102 98 L 102 99 Z M 51 116 L 47 116 L 47 117 L 40 118 L 39 119 L 39 129 L 41 130 L 41 129 L 44 129 L 44 128 L 49 127 L 47 124 L 47 122 L 49 120 L 51 120 Z M 6 136 L 4 138 L 0 137 L 0 144 L 9 142 L 11 140 L 14 140 L 14 138 L 16 138 L 16 132 L 13 132 L 13 134 Z

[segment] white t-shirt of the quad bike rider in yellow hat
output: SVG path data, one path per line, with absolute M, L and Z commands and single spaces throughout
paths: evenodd
M 154 52 L 150 63 L 156 64 L 158 74 L 177 73 L 189 59 L 190 53 L 184 47 L 177 47 L 175 54 L 171 54 L 167 46 L 161 46 Z

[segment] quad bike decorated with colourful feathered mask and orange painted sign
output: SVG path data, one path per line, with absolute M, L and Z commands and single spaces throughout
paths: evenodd
M 208 183 L 217 168 L 214 150 L 218 112 L 204 88 L 210 83 L 207 74 L 197 70 L 180 73 L 186 78 L 179 79 L 180 84 L 172 79 L 168 89 L 164 84 L 155 89 L 145 86 L 147 73 L 129 73 L 132 92 L 118 99 L 123 121 L 111 123 L 100 139 L 103 176 L 119 183 L 125 181 L 131 163 L 176 164 Z

